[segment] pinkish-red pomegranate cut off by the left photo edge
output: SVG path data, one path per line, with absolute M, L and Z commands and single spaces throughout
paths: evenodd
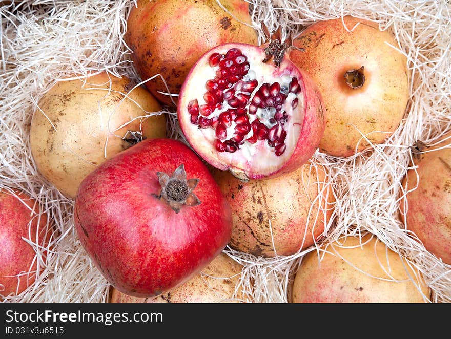
M 42 214 L 39 219 L 36 200 L 18 190 L 14 193 L 30 208 L 6 190 L 0 192 L 0 284 L 3 285 L 0 294 L 3 296 L 22 293 L 36 278 L 34 272 L 20 276 L 20 283 L 17 277 L 8 277 L 36 270 L 36 263 L 33 263 L 36 252 L 22 237 L 43 247 L 49 241 L 46 237 L 47 217 Z M 47 234 L 50 236 L 50 232 Z

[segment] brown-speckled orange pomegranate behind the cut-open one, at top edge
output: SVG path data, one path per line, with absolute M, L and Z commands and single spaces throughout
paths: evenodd
M 197 59 L 224 43 L 257 44 L 249 4 L 243 0 L 138 0 L 127 19 L 124 39 L 142 80 L 161 74 L 172 94 L 178 94 Z M 230 13 L 229 13 L 230 12 Z M 249 25 L 249 26 L 248 26 Z M 160 77 L 146 82 L 162 103 L 172 104 Z M 177 96 L 173 96 L 177 102 Z

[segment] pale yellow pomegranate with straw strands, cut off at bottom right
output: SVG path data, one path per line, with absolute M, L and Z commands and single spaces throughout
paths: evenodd
M 376 237 L 347 237 L 327 244 L 324 257 L 312 251 L 293 284 L 293 303 L 424 303 L 430 295 L 421 273 Z M 322 256 L 322 252 L 320 253 Z M 409 279 L 413 277 L 416 285 Z M 396 281 L 394 281 L 396 280 Z M 425 299 L 426 298 L 426 299 Z

